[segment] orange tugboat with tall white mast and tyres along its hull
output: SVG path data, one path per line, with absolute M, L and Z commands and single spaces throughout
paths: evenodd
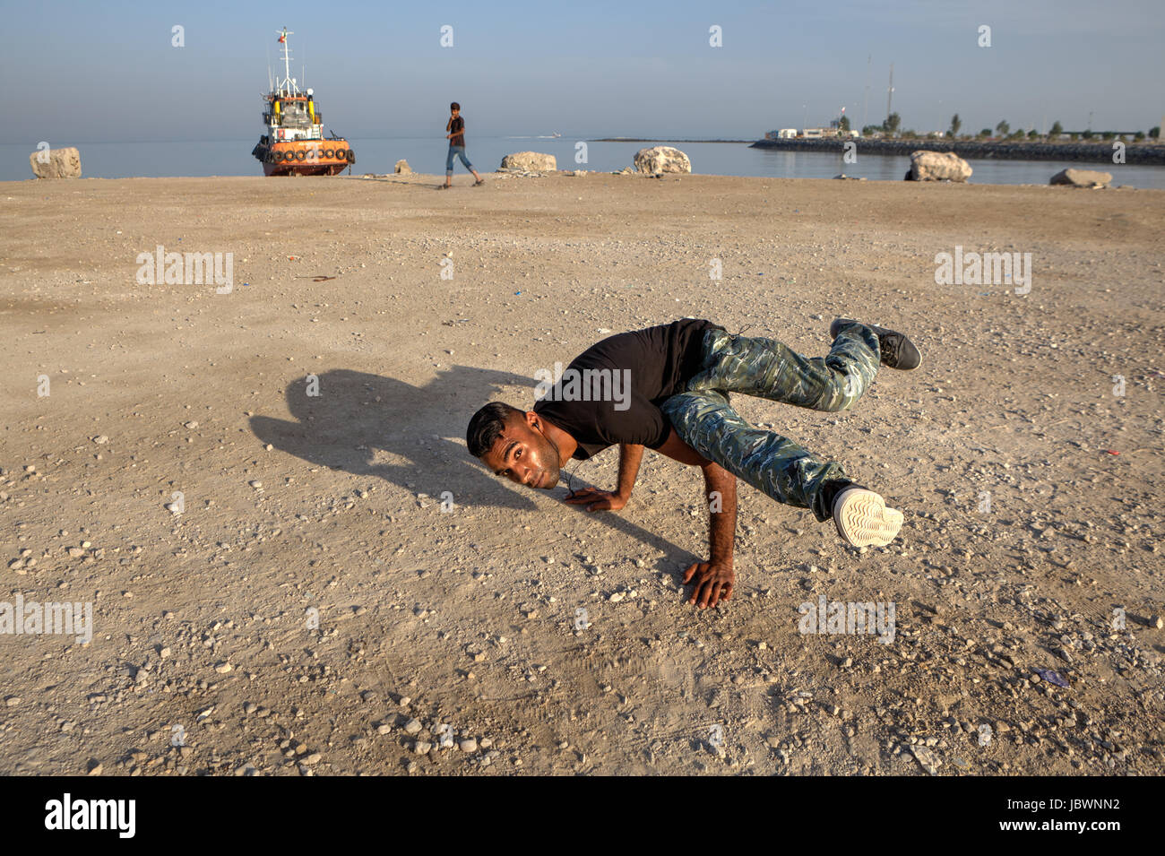
M 250 154 L 268 176 L 334 176 L 356 162 L 356 154 L 341 136 L 324 137 L 324 120 L 311 90 L 305 93 L 291 77 L 287 27 L 278 34 L 283 45 L 283 79 L 263 95 L 267 134 Z

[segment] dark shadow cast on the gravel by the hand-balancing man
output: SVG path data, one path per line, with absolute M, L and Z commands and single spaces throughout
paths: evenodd
M 261 443 L 315 465 L 384 479 L 436 501 L 449 490 L 453 502 L 461 505 L 538 510 L 523 495 L 528 488 L 510 487 L 474 461 L 464 443 L 449 439 L 465 437 L 469 417 L 479 406 L 467 410 L 465 402 L 485 403 L 506 387 L 534 388 L 535 382 L 529 377 L 453 366 L 425 385 L 414 387 L 394 377 L 333 369 L 318 375 L 318 395 L 309 395 L 315 391 L 312 377 L 317 376 L 308 375 L 288 384 L 288 410 L 294 419 L 250 418 L 250 429 Z M 488 397 L 483 398 L 487 391 Z M 388 452 L 405 462 L 374 462 L 377 452 Z M 565 484 L 565 477 L 559 484 Z M 576 477 L 573 487 L 577 490 L 595 486 Z M 556 488 L 552 495 L 562 498 L 566 494 Z M 664 553 L 689 554 L 617 512 L 588 512 L 565 503 L 560 509 L 564 514 L 585 514 Z

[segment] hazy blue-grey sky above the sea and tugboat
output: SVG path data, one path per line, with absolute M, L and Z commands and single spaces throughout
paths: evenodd
M 0 142 L 34 148 L 257 139 L 284 26 L 325 129 L 353 137 L 442 137 L 451 100 L 490 136 L 755 139 L 842 105 L 876 123 L 890 63 L 919 132 L 955 112 L 965 132 L 1082 129 L 1089 111 L 1094 129 L 1148 130 L 1165 113 L 1160 0 L 3 0 L 0 21 Z

